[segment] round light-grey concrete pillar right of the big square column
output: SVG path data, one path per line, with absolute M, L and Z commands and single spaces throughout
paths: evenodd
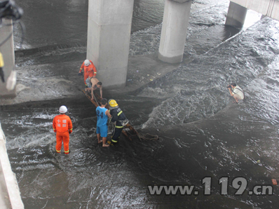
M 182 62 L 191 0 L 165 0 L 158 58 L 163 62 Z

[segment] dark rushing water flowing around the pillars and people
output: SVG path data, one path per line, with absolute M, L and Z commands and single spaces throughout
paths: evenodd
M 269 196 L 248 191 L 279 175 L 279 22 L 264 18 L 239 32 L 224 26 L 229 1 L 194 2 L 193 9 L 205 6 L 191 12 L 184 57 L 193 61 L 139 93 L 114 97 L 135 128 L 160 140 L 121 137 L 118 147 L 100 147 L 86 97 L 1 107 L 25 208 L 278 208 L 278 187 Z M 16 58 L 18 66 L 86 57 L 87 1 L 18 4 L 30 53 Z M 135 0 L 130 55 L 158 52 L 163 4 Z M 231 104 L 231 82 L 245 91 L 244 102 Z M 69 156 L 55 154 L 52 121 L 62 104 L 74 125 Z M 205 177 L 212 177 L 210 196 L 203 195 Z M 229 177 L 225 196 L 221 177 Z M 236 177 L 248 183 L 240 196 L 231 184 Z M 195 185 L 199 195 L 154 196 L 149 185 Z

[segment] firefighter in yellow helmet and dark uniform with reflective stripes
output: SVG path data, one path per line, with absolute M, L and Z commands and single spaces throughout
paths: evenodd
M 114 123 L 114 132 L 111 135 L 111 141 L 108 141 L 108 143 L 114 145 L 118 142 L 124 126 L 129 121 L 118 107 L 116 100 L 109 100 L 109 112 L 111 114 L 111 122 Z

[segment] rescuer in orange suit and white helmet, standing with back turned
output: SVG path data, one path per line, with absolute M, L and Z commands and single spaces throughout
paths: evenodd
M 72 121 L 65 115 L 67 107 L 59 108 L 60 114 L 53 119 L 53 130 L 56 133 L 56 151 L 61 152 L 62 141 L 64 144 L 64 154 L 69 154 L 69 134 L 73 131 Z

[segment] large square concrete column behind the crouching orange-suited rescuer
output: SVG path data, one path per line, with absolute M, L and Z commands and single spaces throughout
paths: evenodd
M 125 86 L 134 0 L 89 0 L 87 59 L 103 88 Z

